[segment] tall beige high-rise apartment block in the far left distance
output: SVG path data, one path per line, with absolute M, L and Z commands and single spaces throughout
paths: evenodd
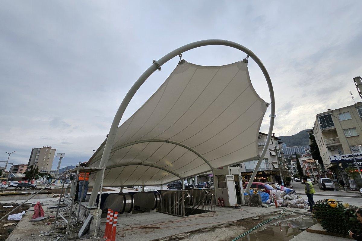
M 55 156 L 55 149 L 52 149 L 51 146 L 43 146 L 38 148 L 33 148 L 31 150 L 30 158 L 27 170 L 30 167 L 39 168 L 39 172 L 48 172 L 51 170 L 53 165 L 53 160 Z

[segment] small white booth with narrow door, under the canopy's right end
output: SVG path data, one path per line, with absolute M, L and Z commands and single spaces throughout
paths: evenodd
M 243 183 L 239 167 L 214 168 L 216 199 L 223 199 L 224 206 L 244 204 Z

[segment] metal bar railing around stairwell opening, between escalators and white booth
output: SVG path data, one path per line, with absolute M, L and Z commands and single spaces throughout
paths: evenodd
M 160 190 L 159 212 L 185 217 L 215 212 L 215 189 Z

